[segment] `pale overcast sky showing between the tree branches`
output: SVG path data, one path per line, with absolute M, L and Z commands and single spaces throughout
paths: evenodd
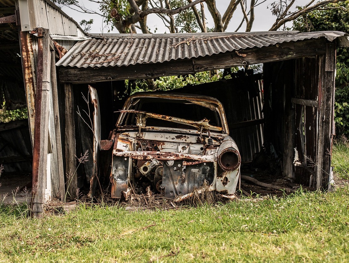
M 259 2 L 261 1 L 262 0 L 259 0 Z M 97 3 L 91 3 L 88 0 L 80 0 L 80 2 L 90 9 L 99 10 L 99 6 Z M 224 14 L 224 11 L 226 10 L 229 2 L 230 0 L 216 0 L 217 8 L 222 15 Z M 272 2 L 273 0 L 267 0 L 265 3 L 262 3 L 261 5 L 255 8 L 255 20 L 253 23 L 252 31 L 268 31 L 270 27 L 273 25 L 273 23 L 275 22 L 275 16 L 273 16 L 270 11 L 270 3 Z M 294 4 L 294 9 L 296 6 L 306 5 L 307 2 L 308 1 L 306 0 L 297 0 Z M 197 5 L 197 8 L 200 9 L 200 5 Z M 80 23 L 80 21 L 83 19 L 85 20 L 94 19 L 94 23 L 89 33 L 108 33 L 108 30 L 110 30 L 110 27 L 108 27 L 106 24 L 103 23 L 102 16 L 82 14 L 68 7 L 63 7 L 62 10 L 67 15 L 71 16 L 78 23 Z M 205 11 L 206 11 L 206 17 L 207 17 L 207 26 L 214 27 L 212 17 L 209 14 L 206 4 L 205 4 Z M 240 24 L 240 22 L 242 21 L 242 18 L 243 18 L 242 12 L 240 12 L 240 10 L 237 9 L 226 31 L 227 32 L 235 31 L 238 25 Z M 148 27 L 153 33 L 156 28 L 157 28 L 156 33 L 159 33 L 159 34 L 165 33 L 165 32 L 169 33 L 169 30 L 164 26 L 162 20 L 159 19 L 159 17 L 156 14 L 148 15 L 147 23 L 148 23 Z M 288 25 L 291 26 L 291 24 L 288 24 Z M 246 29 L 246 24 L 243 24 L 243 26 L 239 29 L 239 31 L 245 31 L 245 29 Z M 114 29 L 110 31 L 110 33 L 118 33 L 118 31 Z M 137 33 L 142 33 L 142 32 L 141 30 L 138 30 Z

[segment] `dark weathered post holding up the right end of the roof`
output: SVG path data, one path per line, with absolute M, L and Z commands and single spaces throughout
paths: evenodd
M 326 55 L 320 56 L 320 76 L 318 94 L 318 140 L 316 160 L 316 189 L 327 190 L 331 169 L 332 155 L 332 121 L 333 121 L 333 90 L 335 88 L 335 59 L 334 43 L 326 44 Z

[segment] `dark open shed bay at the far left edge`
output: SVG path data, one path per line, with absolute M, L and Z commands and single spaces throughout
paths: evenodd
M 1 16 L 15 14 L 2 7 Z M 24 91 L 21 44 L 15 21 L 0 24 L 0 194 L 2 202 L 27 201 L 32 181 L 32 142 Z

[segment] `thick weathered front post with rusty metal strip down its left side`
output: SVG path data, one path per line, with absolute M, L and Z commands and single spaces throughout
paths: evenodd
M 37 90 L 35 98 L 35 124 L 33 147 L 32 212 L 40 216 L 44 212 L 47 147 L 49 142 L 50 103 L 50 34 L 49 29 L 38 28 Z

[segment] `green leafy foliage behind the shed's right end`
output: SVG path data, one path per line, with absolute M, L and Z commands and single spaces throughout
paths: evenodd
M 336 30 L 349 32 L 349 1 L 331 3 L 323 10 L 300 16 L 293 29 L 307 31 Z M 335 123 L 337 134 L 349 134 L 349 49 L 337 49 Z

